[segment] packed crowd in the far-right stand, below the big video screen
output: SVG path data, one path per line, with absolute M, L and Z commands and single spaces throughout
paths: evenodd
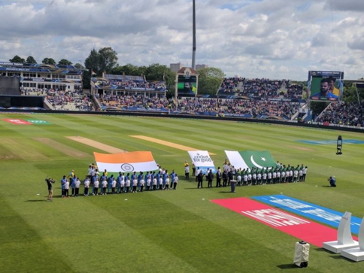
M 334 102 L 326 108 L 316 122 L 324 125 L 364 127 L 364 106 L 357 103 Z

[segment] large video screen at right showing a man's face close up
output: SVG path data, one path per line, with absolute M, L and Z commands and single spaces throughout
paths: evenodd
M 308 71 L 307 89 L 312 101 L 341 101 L 344 72 Z

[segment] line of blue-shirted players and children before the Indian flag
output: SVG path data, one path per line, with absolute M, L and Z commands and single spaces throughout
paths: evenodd
M 89 172 L 90 173 L 90 172 Z M 139 192 L 146 191 L 156 191 L 156 190 L 175 190 L 178 183 L 178 175 L 172 170 L 171 174 L 168 174 L 168 170 L 159 169 L 158 173 L 155 171 L 147 171 L 144 175 L 141 171 L 140 174 L 136 174 L 134 171 L 131 175 L 130 173 L 121 173 L 115 178 L 112 174 L 108 177 L 108 172 L 105 170 L 99 179 L 98 171 L 94 175 L 86 175 L 83 186 L 84 186 L 84 196 L 99 195 L 100 194 L 115 194 L 115 193 L 136 193 L 137 189 Z M 169 187 L 169 184 L 170 187 Z M 90 186 L 92 185 L 92 190 Z M 68 177 L 63 175 L 61 179 L 62 197 L 69 197 L 69 189 L 71 188 L 71 196 L 79 196 L 79 189 L 81 186 L 81 181 L 72 170 Z

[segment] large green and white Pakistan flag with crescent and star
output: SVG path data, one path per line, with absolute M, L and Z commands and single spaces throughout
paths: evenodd
M 262 169 L 276 167 L 276 161 L 269 151 L 225 151 L 231 165 L 236 169 L 251 169 L 252 167 Z

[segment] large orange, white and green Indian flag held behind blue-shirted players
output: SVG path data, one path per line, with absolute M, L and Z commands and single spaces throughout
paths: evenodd
M 95 161 L 99 170 L 107 169 L 109 172 L 139 172 L 158 169 L 152 152 L 128 152 L 117 154 L 100 154 L 94 152 Z

